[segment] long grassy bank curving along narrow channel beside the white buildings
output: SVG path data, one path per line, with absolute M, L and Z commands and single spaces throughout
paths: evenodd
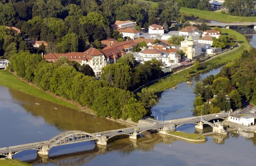
M 193 75 L 190 75 L 191 77 L 199 74 L 199 73 L 205 73 L 212 68 L 219 67 L 221 65 L 226 64 L 227 62 L 231 62 L 233 59 L 241 57 L 241 53 L 243 50 L 250 49 L 251 45 L 247 41 L 247 39 L 244 37 L 244 35 L 239 34 L 236 31 L 233 31 L 231 29 L 222 29 L 222 34 L 233 34 L 237 37 L 237 42 L 241 45 L 239 48 L 235 48 L 232 51 L 229 51 L 227 53 L 222 54 L 221 56 L 215 57 L 210 59 L 209 61 L 206 61 L 202 63 L 202 69 L 196 71 Z M 189 70 L 195 70 L 193 67 Z M 155 93 L 160 94 L 164 90 L 174 87 L 176 84 L 181 82 L 188 81 L 188 69 L 182 70 L 180 72 L 174 73 L 170 75 L 169 77 L 166 77 L 164 79 L 160 79 L 157 82 L 153 82 L 151 85 L 148 85 L 148 87 L 153 90 Z

